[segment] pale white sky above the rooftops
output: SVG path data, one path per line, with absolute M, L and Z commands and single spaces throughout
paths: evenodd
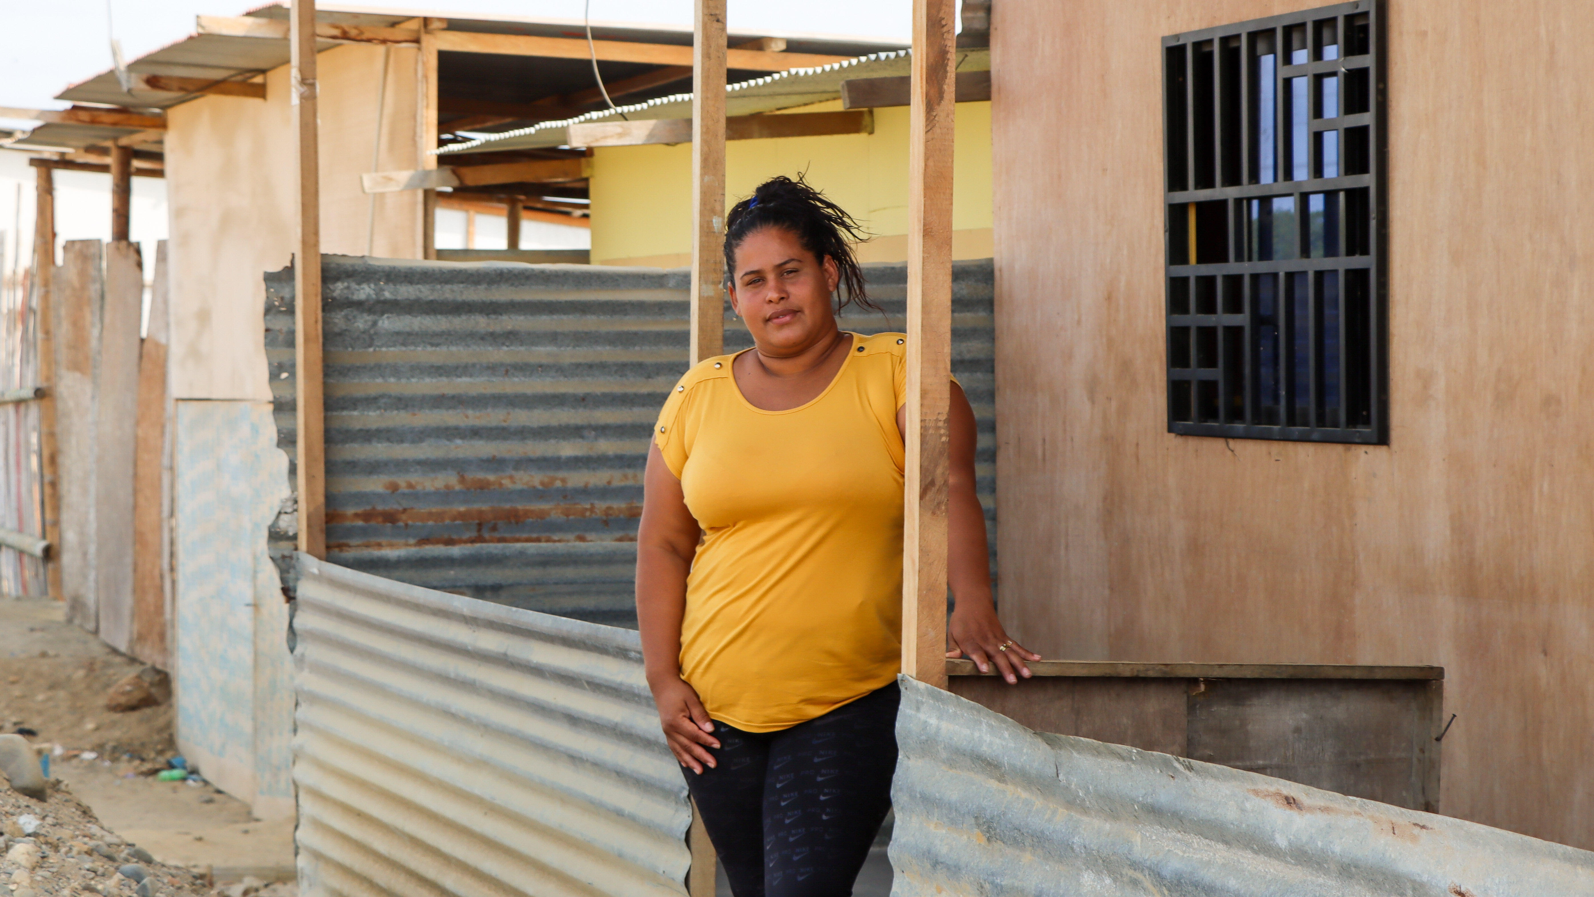
M 0 0 L 0 105 L 65 108 L 51 97 L 112 67 L 110 37 L 131 62 L 193 33 L 194 16 L 238 16 L 268 0 Z M 367 8 L 580 19 L 582 0 L 411 0 Z M 325 3 L 335 6 L 335 3 Z M 352 6 L 338 5 L 338 6 Z M 730 29 L 909 41 L 912 0 L 730 0 Z M 591 0 L 595 22 L 692 24 L 692 0 Z M 26 38 L 22 35 L 27 35 Z

